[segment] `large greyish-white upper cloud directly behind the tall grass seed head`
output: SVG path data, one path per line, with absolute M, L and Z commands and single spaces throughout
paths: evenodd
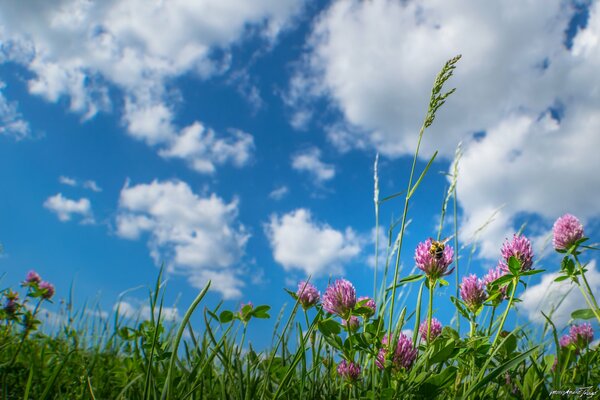
M 424 140 L 424 156 L 432 148 L 450 156 L 465 134 L 521 105 L 540 111 L 554 100 L 541 65 L 566 51 L 569 15 L 559 3 L 509 3 L 334 2 L 315 24 L 291 101 L 326 95 L 360 128 L 346 131 L 346 142 L 366 142 L 385 155 L 412 154 L 433 79 L 462 53 L 449 82 L 458 91 L 438 116 L 443 131 Z M 343 135 L 336 130 L 337 141 Z

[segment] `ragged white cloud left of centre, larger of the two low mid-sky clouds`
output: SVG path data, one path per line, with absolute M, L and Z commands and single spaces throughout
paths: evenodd
M 234 265 L 249 238 L 237 223 L 238 203 L 216 194 L 201 196 L 181 181 L 126 185 L 121 190 L 117 234 L 138 239 L 147 234 L 151 255 L 197 288 L 211 280 L 225 298 L 244 286 Z

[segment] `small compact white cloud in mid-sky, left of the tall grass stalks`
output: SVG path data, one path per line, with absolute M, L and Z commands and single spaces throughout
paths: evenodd
M 351 228 L 335 230 L 314 221 L 310 211 L 303 208 L 272 215 L 265 232 L 275 261 L 286 271 L 301 270 L 313 277 L 341 273 L 342 265 L 361 251 Z

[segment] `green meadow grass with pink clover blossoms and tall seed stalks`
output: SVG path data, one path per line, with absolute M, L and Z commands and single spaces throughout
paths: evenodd
M 600 356 L 598 346 L 591 344 L 591 325 L 573 324 L 569 335 L 559 337 L 552 315 L 544 314 L 541 332 L 522 326 L 504 330 L 524 280 L 542 272 L 531 262 L 525 236 L 516 234 L 505 243 L 501 268 L 485 278 L 460 275 L 459 253 L 465 251 L 458 243 L 456 205 L 460 150 L 436 239 L 417 248 L 413 272 L 418 273 L 400 276 L 410 201 L 437 156 L 417 172 L 421 140 L 454 91 L 444 91 L 444 86 L 459 59 L 449 60 L 434 81 L 404 192 L 380 199 L 376 159 L 377 232 L 383 203 L 403 196 L 404 208 L 388 228 L 381 256 L 377 235 L 372 298 L 357 298 L 345 280 L 331 282 L 323 296 L 310 279 L 297 290 L 285 289 L 293 306 L 279 312 L 271 345 L 255 349 L 246 342 L 246 333 L 254 319 L 271 318 L 270 306 L 200 307 L 210 282 L 176 321 L 163 313 L 162 271 L 150 291 L 147 320 L 127 320 L 118 309 L 112 318 L 93 307 L 74 311 L 71 300 L 62 312 L 44 317 L 54 288 L 32 272 L 20 291 L 7 287 L 1 292 L 0 398 L 546 399 L 568 397 L 567 390 L 599 396 Z M 440 241 L 449 205 L 454 234 Z M 562 239 L 555 248 L 563 256 L 556 280 L 570 280 L 586 300 L 587 307 L 573 313 L 574 321 L 600 321 L 581 261 L 596 249 L 586 245 L 577 224 L 568 218 L 555 224 L 555 242 Z M 455 325 L 442 327 L 433 312 L 434 292 L 448 285 L 452 274 L 456 293 L 437 301 L 454 304 Z M 418 288 L 416 308 L 408 310 L 406 298 L 413 288 Z M 202 318 L 198 331 L 190 323 L 192 314 Z M 468 334 L 461 333 L 461 322 L 469 325 Z M 403 333 L 407 328 L 412 337 Z

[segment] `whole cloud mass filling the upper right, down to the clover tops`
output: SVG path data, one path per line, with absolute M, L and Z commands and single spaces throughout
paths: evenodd
M 336 1 L 316 21 L 286 100 L 305 116 L 312 98 L 329 99 L 342 115 L 328 126 L 340 150 L 411 154 L 434 76 L 462 54 L 449 82 L 458 90 L 421 154 L 449 159 L 464 141 L 462 238 L 504 206 L 481 235 L 481 254 L 495 257 L 520 215 L 600 215 L 600 4 L 568 36 L 575 13 L 573 2 L 542 0 Z

